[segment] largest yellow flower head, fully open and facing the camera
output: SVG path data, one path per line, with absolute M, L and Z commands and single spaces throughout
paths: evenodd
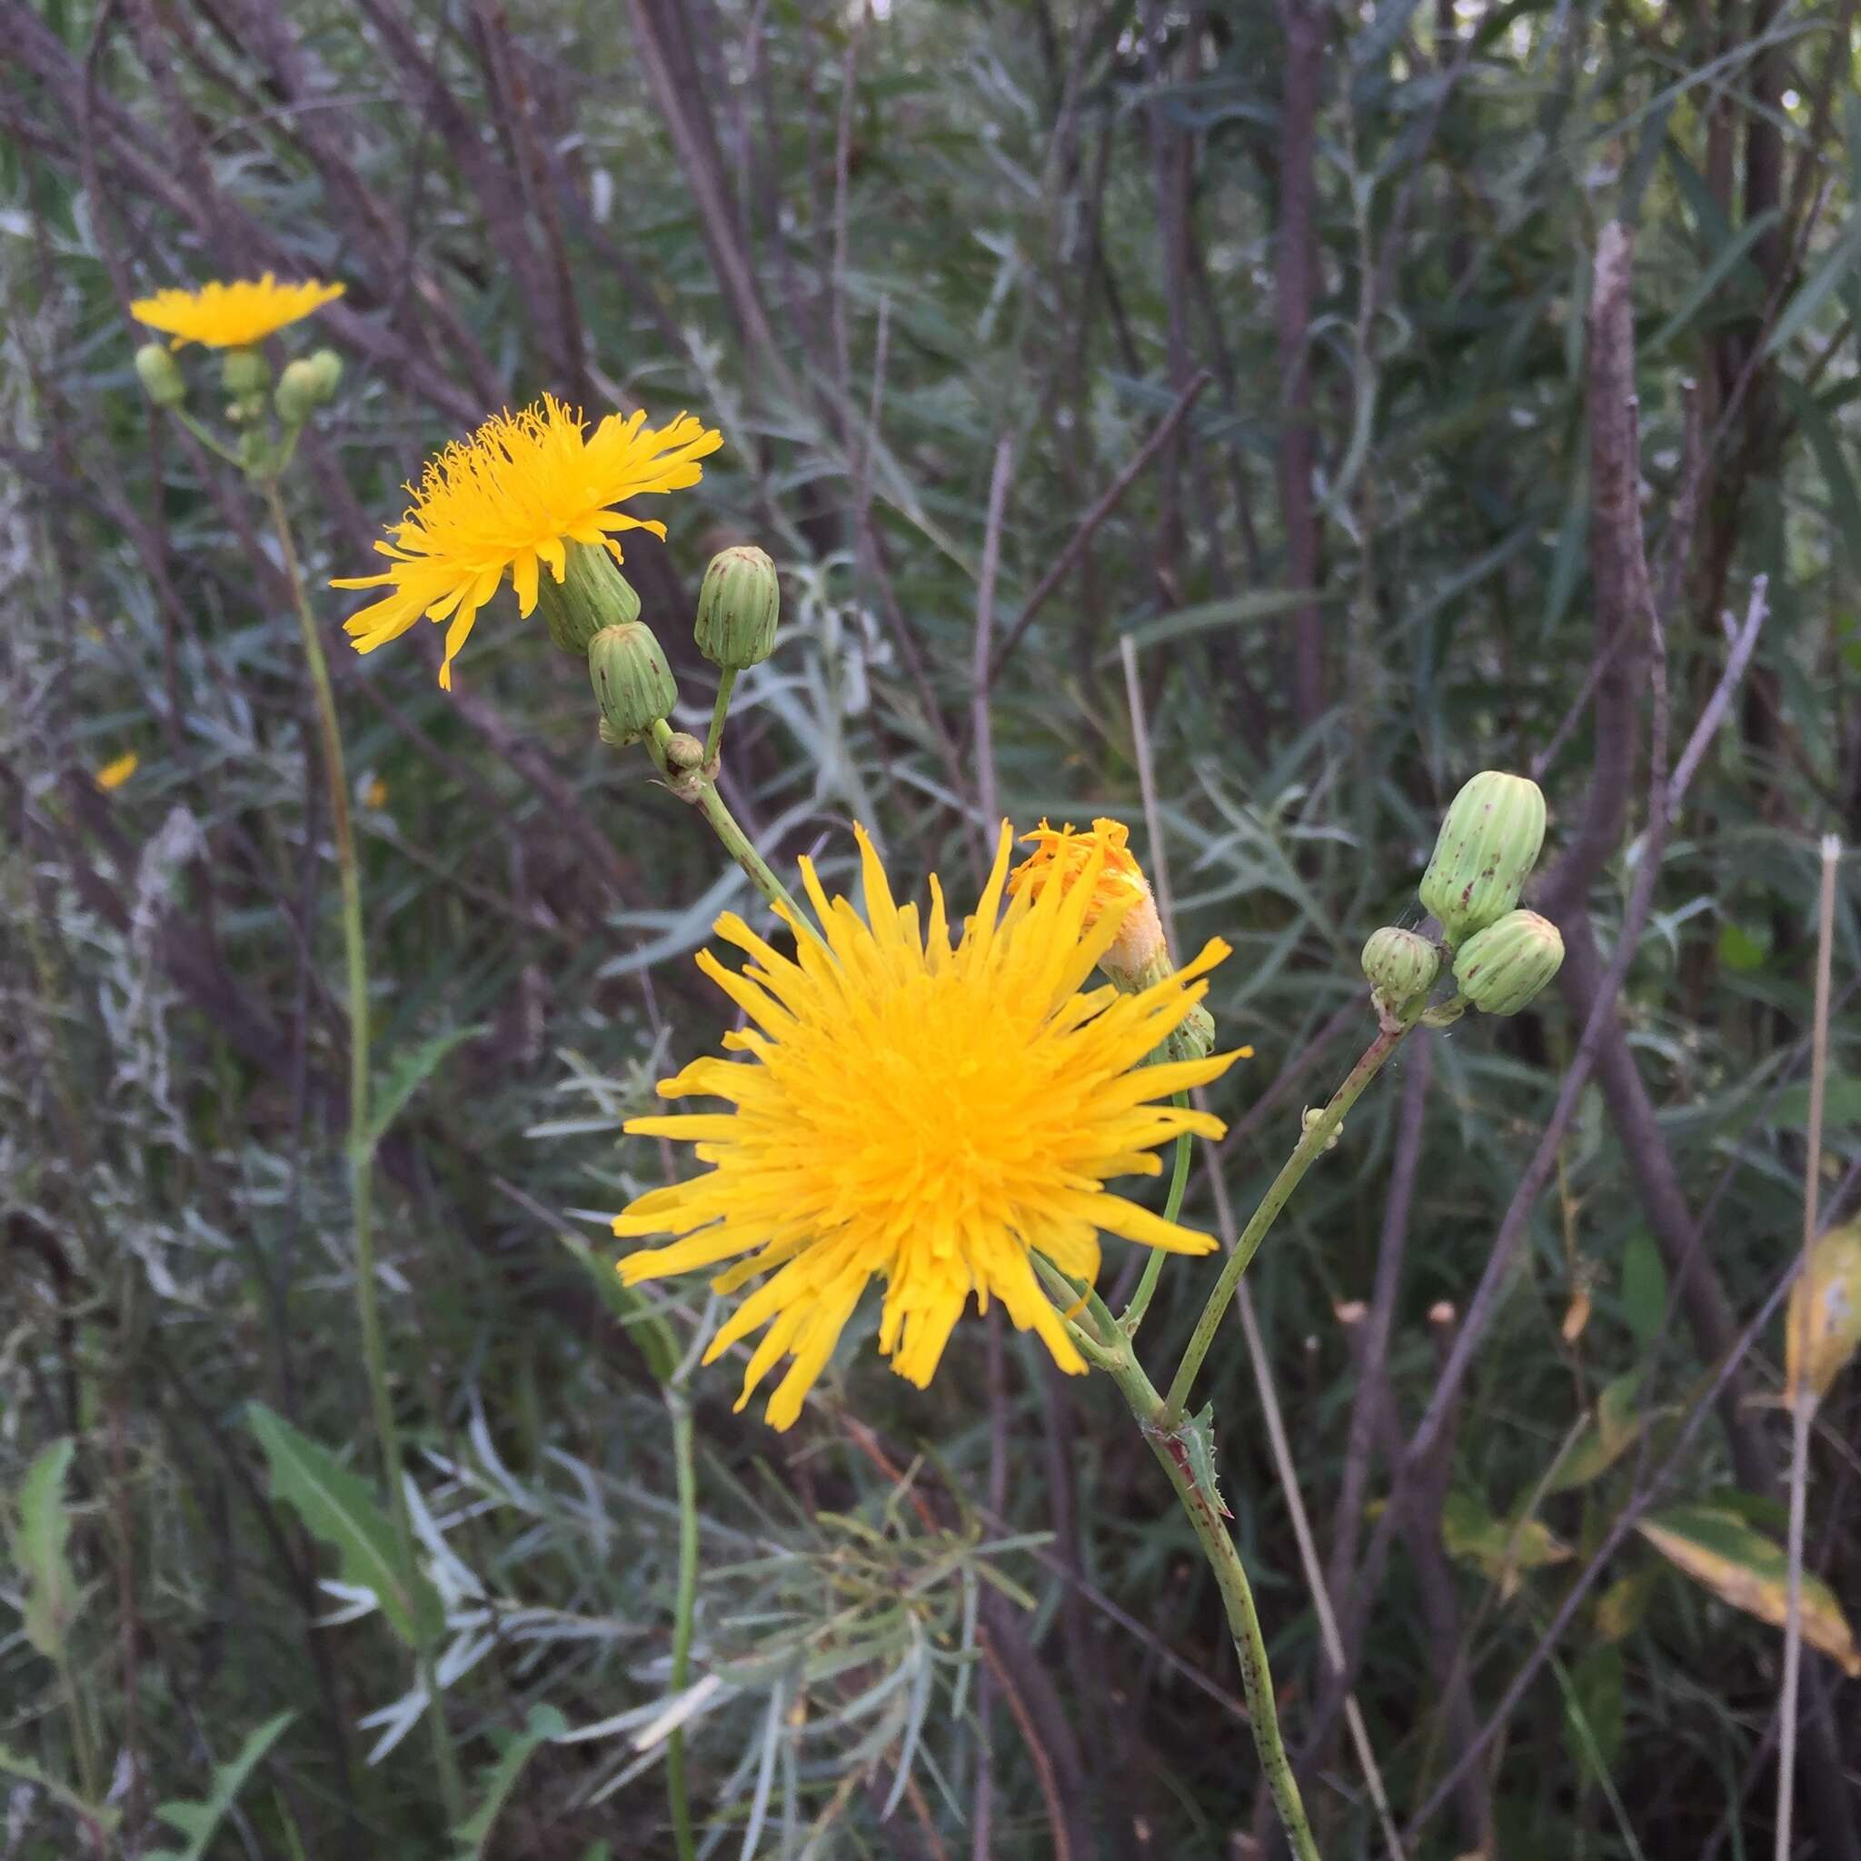
M 1221 1135 L 1219 1118 L 1167 1100 L 1213 1079 L 1232 1055 L 1145 1061 L 1228 947 L 1212 940 L 1143 994 L 1081 992 L 1120 925 L 1120 912 L 1100 910 L 1085 927 L 1102 854 L 1083 869 L 1091 884 L 1024 886 L 1003 914 L 1003 823 L 981 903 L 951 947 L 936 878 L 919 930 L 917 906 L 893 904 L 871 841 L 854 832 L 864 917 L 845 899 L 828 903 L 802 860 L 824 947 L 802 932 L 789 958 L 735 914 L 718 917 L 716 934 L 750 964 L 726 970 L 709 951 L 698 964 L 748 1016 L 724 1046 L 750 1063 L 707 1057 L 661 1081 L 661 1098 L 722 1098 L 733 1109 L 629 1120 L 635 1135 L 696 1145 L 711 1167 L 614 1217 L 618 1236 L 676 1236 L 620 1262 L 629 1286 L 726 1260 L 733 1265 L 713 1282 L 720 1293 L 769 1275 L 705 1362 L 767 1327 L 737 1407 L 789 1357 L 769 1401 L 774 1427 L 800 1414 L 875 1277 L 886 1288 L 878 1347 L 923 1388 L 970 1293 L 984 1310 L 999 1299 L 1061 1370 L 1085 1370 L 1035 1277 L 1037 1252 L 1091 1280 L 1100 1230 L 1185 1254 L 1215 1245 L 1105 1182 L 1158 1174 L 1158 1146 L 1182 1131 Z

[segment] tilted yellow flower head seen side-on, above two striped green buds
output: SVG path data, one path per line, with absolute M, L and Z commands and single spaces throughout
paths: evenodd
M 393 568 L 385 575 L 352 575 L 331 588 L 393 588 L 346 622 L 357 653 L 372 653 L 411 627 L 421 614 L 449 620 L 439 683 L 452 689 L 452 661 L 471 633 L 478 609 L 502 586 L 517 590 L 517 612 L 536 607 L 542 564 L 562 581 L 568 545 L 605 547 L 623 560 L 614 530 L 651 530 L 663 523 L 627 517 L 609 506 L 642 491 L 679 491 L 703 476 L 698 460 L 724 435 L 689 413 L 670 426 L 648 426 L 644 413 L 610 413 L 594 434 L 582 417 L 553 395 L 523 413 L 493 413 L 471 439 L 452 441 L 426 462 L 411 508 L 387 527 L 393 542 L 376 551 Z

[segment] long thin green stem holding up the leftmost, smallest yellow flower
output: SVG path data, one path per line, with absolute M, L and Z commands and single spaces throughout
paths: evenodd
M 368 1135 L 368 949 L 361 921 L 361 867 L 355 860 L 355 828 L 350 821 L 348 776 L 342 763 L 342 730 L 337 720 L 335 690 L 329 685 L 329 663 L 316 633 L 316 620 L 303 592 L 303 569 L 285 515 L 285 499 L 277 480 L 262 480 L 264 499 L 277 530 L 277 545 L 285 556 L 285 575 L 290 599 L 298 610 L 303 635 L 303 659 L 311 670 L 311 689 L 316 694 L 316 724 L 322 735 L 324 783 L 329 793 L 329 826 L 337 849 L 337 875 L 342 884 L 342 951 L 348 960 L 348 1022 L 350 1022 L 350 1130 L 348 1184 L 350 1210 L 355 1221 L 355 1308 L 361 1319 L 363 1368 L 368 1377 L 368 1396 L 374 1407 L 376 1446 L 382 1453 L 382 1474 L 387 1481 L 389 1511 L 395 1520 L 395 1539 L 400 1550 L 400 1580 L 408 1586 L 404 1597 L 409 1621 L 415 1625 L 415 1671 L 426 1694 L 426 1723 L 434 1742 L 434 1766 L 439 1772 L 439 1796 L 447 1824 L 458 1828 L 465 1820 L 465 1787 L 460 1777 L 458 1753 L 452 1749 L 452 1729 L 447 1723 L 445 1699 L 434 1673 L 434 1636 L 424 1625 L 424 1612 L 413 1600 L 413 1574 L 419 1569 L 413 1545 L 413 1520 L 408 1515 L 408 1494 L 400 1485 L 400 1429 L 395 1422 L 395 1403 L 387 1388 L 387 1349 L 382 1342 L 382 1306 L 374 1282 L 374 1141 Z

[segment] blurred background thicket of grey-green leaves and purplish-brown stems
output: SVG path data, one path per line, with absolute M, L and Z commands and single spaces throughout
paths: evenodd
M 1852 0 L 0 0 L 0 1854 L 670 1855 L 674 1721 L 707 1854 L 1271 1844 L 1143 1440 L 990 1325 L 923 1396 L 841 1351 L 789 1437 L 692 1383 L 668 1708 L 664 1334 L 610 1303 L 601 1215 L 663 1167 L 616 1128 L 713 1044 L 689 958 L 744 888 L 542 625 L 486 618 L 449 698 L 435 629 L 357 661 L 318 594 L 445 1829 L 396 1623 L 341 1589 L 367 1533 L 339 1563 L 292 1496 L 382 1504 L 311 698 L 262 506 L 130 372 L 132 296 L 268 266 L 348 283 L 290 480 L 318 579 L 501 404 L 690 408 L 726 450 L 629 568 L 700 713 L 698 569 L 780 560 L 728 770 L 778 865 L 845 875 L 862 819 L 960 895 L 1003 811 L 1139 828 L 1256 1048 L 1198 1223 L 1347 1070 L 1357 945 L 1414 921 L 1446 797 L 1539 774 L 1560 992 L 1351 1115 L 1210 1362 L 1225 1493 L 1327 1855 L 1385 1820 L 1412 1855 L 1768 1854 L 1779 1634 L 1640 1526 L 1783 1535 L 1814 839 L 1861 836 Z M 1591 337 L 1612 220 L 1632 361 Z M 1165 1275 L 1148 1355 L 1212 1271 Z M 664 1301 L 674 1349 L 703 1306 Z M 268 1457 L 253 1401 L 326 1461 Z M 1850 1612 L 1857 1416 L 1850 1375 L 1809 1485 Z M 1800 1852 L 1861 1852 L 1857 1774 L 1816 1656 Z

